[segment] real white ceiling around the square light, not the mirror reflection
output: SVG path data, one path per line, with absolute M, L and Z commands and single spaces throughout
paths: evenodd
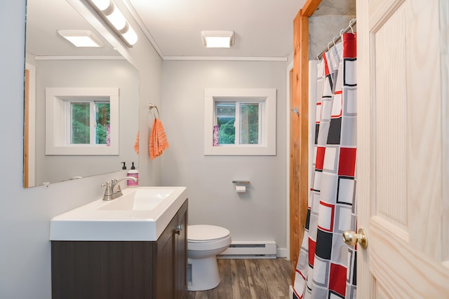
M 306 0 L 125 0 L 161 57 L 287 57 Z M 201 30 L 233 30 L 229 49 L 208 49 Z

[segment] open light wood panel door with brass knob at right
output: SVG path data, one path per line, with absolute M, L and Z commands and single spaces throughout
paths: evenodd
M 448 3 L 357 1 L 358 298 L 449 298 Z

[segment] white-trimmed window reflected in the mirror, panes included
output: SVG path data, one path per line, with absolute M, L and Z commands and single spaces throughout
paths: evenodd
M 46 155 L 118 154 L 118 88 L 46 88 Z

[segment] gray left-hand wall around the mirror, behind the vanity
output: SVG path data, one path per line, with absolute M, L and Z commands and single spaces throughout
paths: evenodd
M 25 0 L 1 1 L 0 27 L 11 29 L 2 30 L 0 44 L 0 298 L 48 299 L 50 219 L 99 198 L 103 192 L 100 184 L 123 173 L 55 183 L 48 188 L 22 187 Z M 145 82 L 140 84 L 140 95 L 145 101 L 159 101 L 161 59 L 143 37 L 130 50 L 130 57 L 138 66 L 140 81 Z M 145 127 L 143 120 L 140 129 Z M 160 162 L 149 162 L 147 155 L 142 155 L 140 167 L 142 184 L 159 184 Z

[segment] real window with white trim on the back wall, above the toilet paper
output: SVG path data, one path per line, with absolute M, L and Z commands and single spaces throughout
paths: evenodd
M 276 90 L 206 89 L 204 95 L 205 155 L 276 155 Z

